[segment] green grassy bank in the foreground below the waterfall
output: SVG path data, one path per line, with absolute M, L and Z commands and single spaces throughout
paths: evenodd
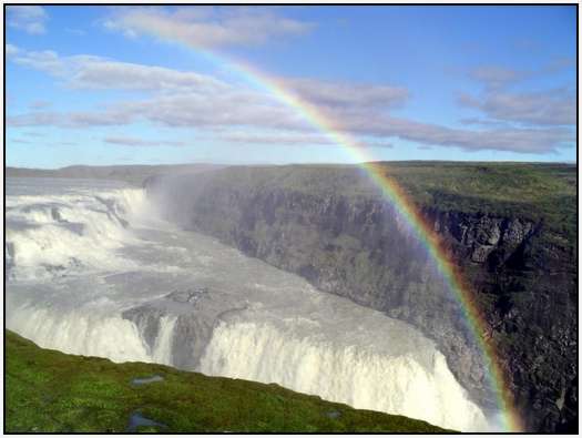
M 163 380 L 133 383 L 154 375 Z M 4 390 L 4 432 L 445 431 L 274 384 L 65 355 L 8 330 Z M 150 425 L 132 425 L 135 416 Z

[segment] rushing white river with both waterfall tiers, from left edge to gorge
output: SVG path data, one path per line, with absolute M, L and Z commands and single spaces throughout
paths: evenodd
M 489 430 L 417 329 L 176 228 L 140 189 L 7 179 L 6 221 L 7 327 L 42 347 Z

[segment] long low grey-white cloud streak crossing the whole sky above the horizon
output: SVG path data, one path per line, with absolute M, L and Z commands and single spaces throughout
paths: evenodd
M 222 135 L 229 141 L 283 143 L 286 141 L 299 144 L 308 143 L 309 135 L 319 139 L 315 129 L 306 125 L 295 114 L 286 109 L 277 109 L 277 113 L 263 108 L 241 108 L 238 111 L 221 114 L 228 111 L 228 100 L 205 102 L 188 96 L 157 96 L 140 102 L 120 103 L 106 111 L 73 112 L 73 113 L 40 113 L 22 114 L 7 118 L 9 126 L 57 125 L 61 128 L 89 128 L 106 125 L 127 125 L 137 121 L 149 121 L 171 128 L 196 128 L 197 130 L 215 130 L 216 128 L 232 130 L 270 129 L 295 132 L 296 136 L 277 134 L 275 136 L 243 137 L 233 134 Z M 222 109 L 221 109 L 222 108 Z M 234 109 L 237 106 L 235 105 Z M 275 109 L 273 109 L 275 110 Z M 572 144 L 575 135 L 570 129 L 490 129 L 490 130 L 459 130 L 436 124 L 421 123 L 407 119 L 392 118 L 389 114 L 370 111 L 351 111 L 331 113 L 321 110 L 321 114 L 333 120 L 333 124 L 341 126 L 341 131 L 361 140 L 363 145 L 380 146 L 390 139 L 402 139 L 425 145 L 455 146 L 464 151 L 510 151 L 518 153 L 552 153 L 557 149 Z M 211 132 L 212 133 L 212 132 Z M 300 134 L 300 135 L 297 135 Z M 307 136 L 305 136 L 307 135 Z M 112 140 L 112 139 L 110 139 Z M 121 140 L 121 139 L 113 139 Z M 126 142 L 126 139 L 124 139 Z M 121 143 L 118 142 L 118 143 Z M 152 142 L 155 143 L 155 142 Z M 137 144 L 134 144 L 137 145 Z M 145 145 L 145 144 L 143 144 Z

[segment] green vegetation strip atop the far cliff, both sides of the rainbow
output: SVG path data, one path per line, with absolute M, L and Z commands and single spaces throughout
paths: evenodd
M 561 163 L 400 161 L 374 163 L 396 181 L 419 208 L 519 217 L 541 223 L 545 237 L 575 245 L 578 169 Z M 314 172 L 317 170 L 317 172 Z M 366 171 L 354 165 L 238 166 L 214 179 L 253 190 L 309 195 L 382 196 Z M 333 191 L 333 193 L 328 193 Z

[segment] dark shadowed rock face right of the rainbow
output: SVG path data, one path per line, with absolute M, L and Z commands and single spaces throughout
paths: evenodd
M 543 224 L 426 211 L 482 301 L 528 430 L 578 429 L 575 257 Z M 490 302 L 488 305 L 487 303 Z M 568 398 L 566 394 L 571 397 Z

